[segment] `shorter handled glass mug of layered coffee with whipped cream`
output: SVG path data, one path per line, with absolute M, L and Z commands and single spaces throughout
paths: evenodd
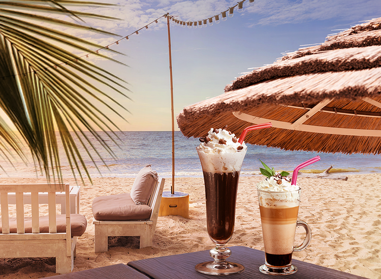
M 292 254 L 303 250 L 311 238 L 309 226 L 297 220 L 301 190 L 280 173 L 261 181 L 257 188 L 265 246 L 265 264 L 260 270 L 276 275 L 294 273 L 297 268 L 292 265 Z M 306 239 L 299 247 L 294 247 L 296 226 L 306 230 Z

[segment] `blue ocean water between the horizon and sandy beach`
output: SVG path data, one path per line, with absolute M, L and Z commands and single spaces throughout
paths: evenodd
M 137 131 L 117 132 L 120 137 L 117 147 L 111 140 L 106 140 L 112 146 L 117 158 L 97 147 L 97 151 L 103 156 L 104 162 L 94 158 L 102 175 L 88 158 L 85 159 L 86 167 L 93 178 L 118 177 L 133 178 L 137 172 L 147 164 L 150 164 L 158 175 L 172 177 L 172 132 L 171 131 Z M 175 132 L 175 177 L 202 177 L 201 164 L 196 152 L 199 145 L 198 138 L 186 138 L 181 132 Z M 360 174 L 381 172 L 381 155 L 341 153 L 318 153 L 304 151 L 284 151 L 277 148 L 268 148 L 256 145 L 247 145 L 247 153 L 242 164 L 241 176 L 260 175 L 262 167 L 260 160 L 275 170 L 291 172 L 295 166 L 316 155 L 321 157 L 319 162 L 311 164 L 303 171 L 320 173 L 330 166 L 330 172 Z M 65 178 L 73 177 L 71 168 L 61 156 L 62 174 Z M 4 170 L 0 171 L 1 177 L 36 177 L 33 164 L 25 165 L 14 161 L 14 167 L 0 160 Z M 108 165 L 108 167 L 106 166 Z

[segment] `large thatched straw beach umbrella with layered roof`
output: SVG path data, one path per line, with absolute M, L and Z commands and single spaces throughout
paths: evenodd
M 381 153 L 381 18 L 288 53 L 227 85 L 225 93 L 185 107 L 181 132 L 205 136 L 228 125 L 245 142 L 284 150 Z

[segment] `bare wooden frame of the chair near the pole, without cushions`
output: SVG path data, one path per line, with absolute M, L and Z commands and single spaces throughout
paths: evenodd
M 159 178 L 153 187 L 148 204 L 152 208 L 147 220 L 131 221 L 97 221 L 93 220 L 95 228 L 95 252 L 107 252 L 108 236 L 140 236 L 140 248 L 152 246 L 158 211 L 162 200 L 164 178 Z

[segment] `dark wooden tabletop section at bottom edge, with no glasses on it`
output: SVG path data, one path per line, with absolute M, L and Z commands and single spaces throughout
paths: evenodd
M 149 279 L 149 277 L 125 264 L 114 264 L 77 272 L 45 277 L 49 279 Z

